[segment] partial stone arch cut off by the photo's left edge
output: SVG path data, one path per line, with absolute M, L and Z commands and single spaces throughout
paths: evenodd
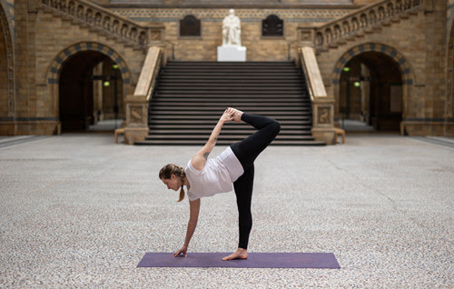
M 13 18 L 8 15 L 3 1 L 0 1 L 0 25 L 5 37 L 6 45 L 6 69 L 7 69 L 7 106 L 8 117 L 15 116 L 15 49 L 13 44 Z

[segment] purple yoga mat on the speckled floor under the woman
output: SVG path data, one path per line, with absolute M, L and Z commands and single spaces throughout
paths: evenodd
M 246 260 L 222 261 L 228 253 L 146 253 L 137 267 L 233 267 L 233 268 L 331 268 L 339 269 L 332 253 L 249 253 Z

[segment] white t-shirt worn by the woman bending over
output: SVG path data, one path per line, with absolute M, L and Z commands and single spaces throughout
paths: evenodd
M 232 183 L 244 173 L 244 170 L 229 146 L 222 154 L 208 159 L 202 171 L 195 169 L 189 160 L 184 173 L 191 186 L 188 198 L 195 201 L 201 197 L 231 192 Z

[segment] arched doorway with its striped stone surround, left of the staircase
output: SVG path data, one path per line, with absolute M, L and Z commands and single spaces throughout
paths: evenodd
M 63 131 L 86 130 L 100 118 L 122 120 L 123 99 L 133 93 L 130 70 L 123 56 L 101 43 L 80 42 L 68 46 L 55 55 L 46 78 L 55 104 L 53 114 L 64 123 Z M 121 123 L 115 121 L 114 125 L 108 125 L 106 130 L 113 130 Z

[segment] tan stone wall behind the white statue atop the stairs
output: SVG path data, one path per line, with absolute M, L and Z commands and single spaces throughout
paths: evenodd
M 112 12 L 137 23 L 156 22 L 165 26 L 165 46 L 170 59 L 217 60 L 217 46 L 222 45 L 222 19 L 229 8 L 112 8 Z M 278 61 L 296 58 L 297 27 L 320 25 L 351 12 L 350 8 L 332 9 L 235 9 L 242 21 L 242 45 L 247 47 L 248 61 Z M 180 37 L 179 23 L 184 16 L 201 20 L 200 36 Z M 283 35 L 262 36 L 262 20 L 277 15 L 283 21 Z

